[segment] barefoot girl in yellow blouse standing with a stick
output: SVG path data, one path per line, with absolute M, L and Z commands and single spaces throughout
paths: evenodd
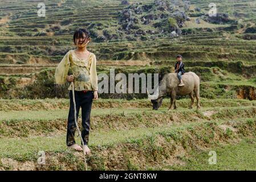
M 70 111 L 68 113 L 67 138 L 66 144 L 76 151 L 84 150 L 85 154 L 90 154 L 88 147 L 90 131 L 90 115 L 92 101 L 97 100 L 97 72 L 95 54 L 87 50 L 87 45 L 91 42 L 90 33 L 79 28 L 73 36 L 76 49 L 70 50 L 60 61 L 55 72 L 56 84 L 64 84 L 66 81 L 74 82 L 76 118 L 78 118 L 79 109 L 82 107 L 82 138 L 84 148 L 75 143 L 75 119 L 74 103 L 72 96 L 72 86 L 70 84 Z

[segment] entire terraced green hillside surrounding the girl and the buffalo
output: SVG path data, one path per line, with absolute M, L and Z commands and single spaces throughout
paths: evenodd
M 190 9 L 205 13 L 211 1 L 189 2 Z M 188 97 L 178 97 L 178 109 L 171 111 L 165 98 L 155 111 L 146 94 L 99 94 L 91 115 L 88 169 L 256 169 L 256 40 L 243 39 L 256 34 L 246 33 L 255 27 L 256 3 L 215 2 L 219 13 L 242 23 L 197 24 L 200 15 L 193 11 L 177 38 L 93 39 L 88 50 L 96 55 L 98 74 L 114 68 L 116 73 L 162 76 L 174 72 L 181 54 L 186 72 L 200 76 L 201 109 L 188 109 Z M 117 0 L 52 0 L 45 1 L 42 18 L 37 5 L 32 0 L 0 2 L 0 169 L 84 170 L 82 153 L 66 148 L 67 85 L 55 88 L 54 71 L 75 49 L 76 28 L 115 34 L 121 27 L 118 11 L 127 6 Z M 46 164 L 38 163 L 40 151 Z M 216 151 L 217 164 L 208 163 L 210 151 Z

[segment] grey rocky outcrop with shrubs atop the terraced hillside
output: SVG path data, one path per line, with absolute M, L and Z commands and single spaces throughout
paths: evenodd
M 143 40 L 152 39 L 156 35 L 166 35 L 170 38 L 179 36 L 184 22 L 190 20 L 186 14 L 189 2 L 182 2 L 182 6 L 180 3 L 175 5 L 166 0 L 155 0 L 145 5 L 134 3 L 119 12 L 119 31 L 127 34 L 129 40 L 141 35 L 145 36 Z M 154 30 L 146 30 L 149 26 Z

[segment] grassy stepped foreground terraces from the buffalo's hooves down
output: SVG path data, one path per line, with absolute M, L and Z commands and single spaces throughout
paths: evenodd
M 67 100 L 16 102 L 22 104 L 17 107 L 19 111 L 0 111 L 0 167 L 21 169 L 26 162 L 32 164 L 30 169 L 84 169 L 81 154 L 67 150 L 65 146 Z M 111 109 L 109 103 L 115 107 Z M 148 105 L 147 100 L 95 102 L 90 135 L 92 155 L 87 158 L 89 168 L 207 169 L 209 166 L 206 163 L 199 166 L 194 161 L 197 155 L 200 160 L 204 160 L 206 152 L 214 149 L 221 154 L 220 159 L 218 158 L 221 160 L 228 154 L 228 150 L 224 151 L 223 144 L 237 143 L 238 138 L 251 138 L 254 135 L 254 101 L 202 100 L 202 106 L 205 106 L 199 111 L 184 108 L 187 104 L 188 100 L 179 100 L 178 110 L 166 111 L 164 107 L 168 105 L 168 101 L 165 100 L 164 107 L 159 111 L 152 111 L 145 107 Z M 13 102 L 0 102 L 2 107 L 8 105 L 11 107 Z M 47 106 L 47 110 L 44 106 Z M 149 122 L 149 118 L 154 119 Z M 218 136 L 218 139 L 213 138 L 212 134 Z M 188 138 L 193 142 L 190 143 Z M 78 138 L 77 140 L 79 141 Z M 171 146 L 166 146 L 166 142 Z M 247 151 L 253 150 L 250 143 L 241 142 L 237 146 L 243 146 L 243 152 L 248 155 Z M 181 150 L 182 152 L 178 152 Z M 46 166 L 36 164 L 38 151 L 46 152 Z M 129 154 L 128 151 L 132 153 Z M 112 159 L 105 158 L 106 152 L 107 156 L 112 157 L 115 154 L 123 157 L 121 161 L 111 164 Z M 162 158 L 162 152 L 165 159 Z M 136 158 L 141 158 L 141 161 L 136 162 Z M 7 159 L 16 161 L 16 164 L 6 163 Z M 116 157 L 113 160 L 115 159 Z M 231 158 L 227 158 L 225 162 L 220 161 L 220 167 L 215 169 L 225 169 L 230 160 Z M 238 167 L 232 160 L 233 166 L 229 166 L 229 169 L 243 169 L 246 161 L 243 158 L 243 166 Z M 214 169 L 214 166 L 211 167 Z

